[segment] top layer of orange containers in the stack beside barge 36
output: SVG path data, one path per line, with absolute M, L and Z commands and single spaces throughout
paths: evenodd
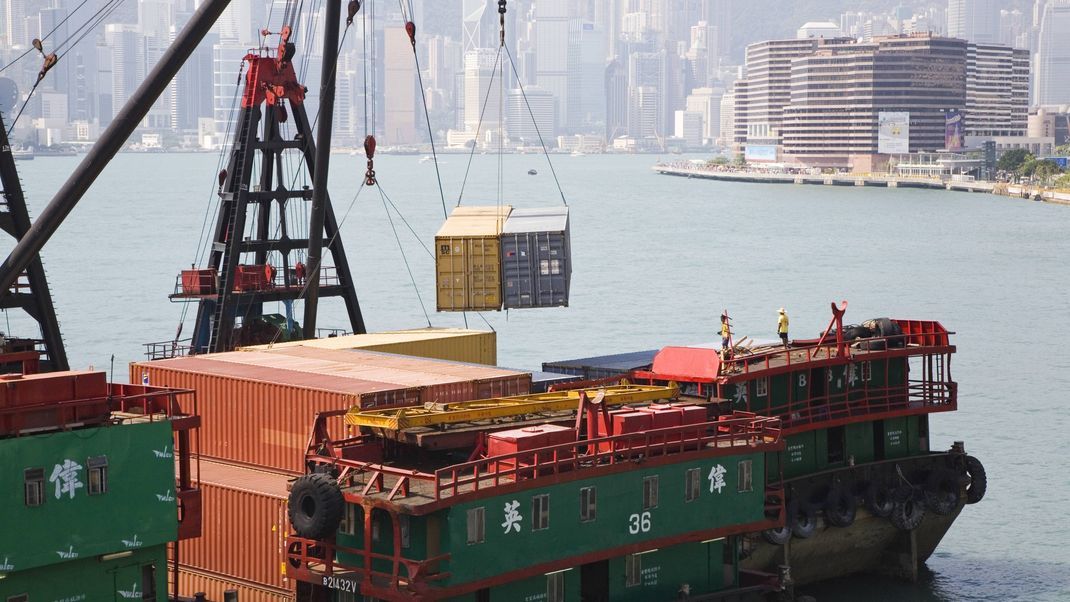
M 360 352 L 285 351 L 299 355 L 230 352 L 135 362 L 131 381 L 197 391 L 201 456 L 291 474 L 305 472 L 304 452 L 320 412 L 523 395 L 531 387 L 529 373 L 498 368 L 470 366 L 449 375 L 441 360 L 377 353 L 395 365 L 374 366 L 300 355 L 358 358 Z M 341 417 L 330 427 L 347 432 Z

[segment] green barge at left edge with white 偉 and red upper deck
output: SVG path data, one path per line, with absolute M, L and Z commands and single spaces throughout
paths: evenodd
M 167 600 L 168 545 L 200 532 L 190 391 L 21 364 L 0 376 L 0 600 Z

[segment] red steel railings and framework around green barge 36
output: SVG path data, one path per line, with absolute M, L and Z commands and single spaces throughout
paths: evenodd
M 434 588 L 433 582 L 446 578 L 448 572 L 432 571 L 438 570 L 440 562 L 448 560 L 449 555 L 443 554 L 424 560 L 402 556 L 400 523 L 397 520 L 401 512 L 393 501 L 399 493 L 408 495 L 413 481 L 423 481 L 425 485 L 430 485 L 433 500 L 407 505 L 406 513 L 426 514 L 472 498 L 631 470 L 635 469 L 636 458 L 640 456 L 644 458 L 644 465 L 656 466 L 690 458 L 729 456 L 738 453 L 740 449 L 746 449 L 748 452 L 781 450 L 784 443 L 780 436 L 780 421 L 777 418 L 761 417 L 751 413 L 738 413 L 732 417 L 722 417 L 720 420 L 702 425 L 625 433 L 484 458 L 440 468 L 431 474 L 350 459 L 360 454 L 354 453 L 360 447 L 378 443 L 362 436 L 332 441 L 326 428 L 327 418 L 339 414 L 327 412 L 317 415 L 306 458 L 309 465 L 327 464 L 340 468 L 339 482 L 351 482 L 353 477 L 364 477 L 365 484 L 360 494 L 343 491 L 347 503 L 358 504 L 364 508 L 364 549 L 339 546 L 333 540 L 314 541 L 291 536 L 287 540 L 288 570 L 294 578 L 309 583 L 322 584 L 324 577 L 333 577 L 337 573 L 358 583 L 362 593 L 385 600 L 448 598 L 651 547 L 779 527 L 784 521 L 782 491 L 778 485 L 767 485 L 764 521 L 697 530 L 656 541 L 601 550 L 580 557 L 565 558 L 496 575 L 477 583 Z M 605 451 L 598 451 L 599 448 Z M 392 482 L 388 482 L 387 478 L 391 478 Z M 369 494 L 383 492 L 388 493 L 376 499 L 367 497 Z M 394 527 L 393 555 L 371 552 L 373 509 L 385 510 L 391 516 Z M 362 567 L 337 564 L 335 556 L 338 552 L 362 557 Z M 372 569 L 372 562 L 377 560 L 389 562 L 391 572 Z

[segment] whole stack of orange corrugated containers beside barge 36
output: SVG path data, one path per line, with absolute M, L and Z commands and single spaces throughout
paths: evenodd
M 485 336 L 454 335 L 465 341 L 458 349 L 488 358 Z M 215 600 L 233 588 L 242 599 L 293 599 L 295 584 L 287 576 L 284 545 L 287 484 L 305 472 L 317 413 L 531 391 L 529 372 L 349 349 L 352 341 L 343 339 L 320 341 L 323 346 L 304 341 L 131 365 L 134 383 L 197 391 L 203 528 L 201 538 L 179 547 L 181 595 L 215 592 Z M 438 337 L 431 346 L 448 352 L 443 340 Z M 338 349 L 331 349 L 335 344 Z M 330 427 L 334 433 L 347 432 L 341 417 Z

